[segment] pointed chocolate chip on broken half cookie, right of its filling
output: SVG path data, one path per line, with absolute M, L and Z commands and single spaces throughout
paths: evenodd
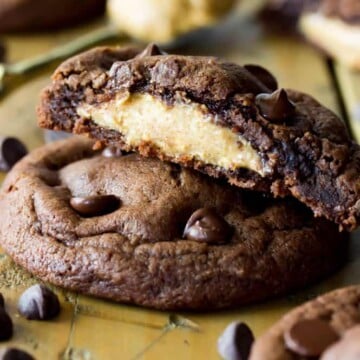
M 259 94 L 255 99 L 261 115 L 274 122 L 285 121 L 295 114 L 295 105 L 288 99 L 284 89 L 272 94 Z

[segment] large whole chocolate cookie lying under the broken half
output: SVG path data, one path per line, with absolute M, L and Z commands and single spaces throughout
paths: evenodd
M 157 159 L 71 138 L 22 159 L 0 194 L 0 241 L 39 278 L 158 309 L 220 309 L 315 282 L 344 234 L 274 200 Z

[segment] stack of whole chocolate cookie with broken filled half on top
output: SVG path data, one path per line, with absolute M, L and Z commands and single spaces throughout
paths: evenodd
M 259 66 L 97 48 L 57 69 L 38 115 L 92 138 L 35 150 L 2 187 L 2 246 L 56 285 L 238 306 L 329 274 L 346 250 L 338 227 L 358 224 L 359 146 Z

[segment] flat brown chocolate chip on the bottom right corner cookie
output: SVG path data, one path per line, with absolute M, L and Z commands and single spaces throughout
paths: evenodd
M 285 346 L 301 356 L 320 356 L 339 339 L 335 330 L 324 320 L 302 320 L 284 334 Z

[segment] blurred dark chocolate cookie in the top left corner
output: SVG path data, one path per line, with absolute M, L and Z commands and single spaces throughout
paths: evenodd
M 105 0 L 1 0 L 0 32 L 77 25 L 105 10 Z

